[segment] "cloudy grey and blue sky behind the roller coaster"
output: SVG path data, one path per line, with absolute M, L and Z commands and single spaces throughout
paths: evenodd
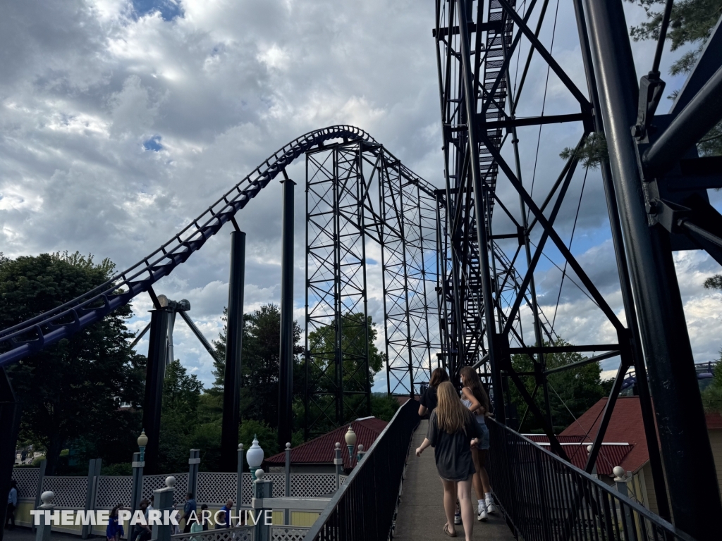
M 625 9 L 628 25 L 644 17 L 631 4 Z M 432 0 L 6 3 L 0 19 L 0 251 L 15 257 L 79 250 L 126 268 L 272 151 L 334 123 L 365 129 L 440 186 L 433 25 Z M 541 39 L 586 88 L 570 0 L 549 2 Z M 638 73 L 648 71 L 653 44 L 633 49 Z M 663 71 L 682 52 L 666 53 Z M 681 84 L 667 77 L 668 89 Z M 524 92 L 518 115 L 538 115 L 542 108 L 545 114 L 573 112 L 568 92 L 553 74 L 547 82 L 539 62 Z M 545 126 L 541 133 L 523 128 L 519 136 L 524 183 L 531 189 L 534 182 L 541 201 L 562 167 L 559 151 L 576 143 L 580 126 Z M 300 183 L 295 305 L 303 323 L 303 160 L 289 173 Z M 511 200 L 509 190 L 500 182 L 500 193 Z M 271 182 L 237 216 L 248 233 L 247 310 L 279 299 L 280 193 L 279 183 Z M 719 194 L 710 197 L 719 206 Z M 623 317 L 596 172 L 585 182 L 578 171 L 562 208 L 558 223 L 567 241 L 577 215 L 572 250 Z M 206 242 L 155 286 L 158 294 L 190 300 L 190 315 L 209 339 L 217 336 L 227 302 L 227 234 Z M 560 258 L 554 250 L 547 255 L 536 282 L 550 319 L 560 296 L 557 332 L 573 343 L 613 340 L 612 327 L 573 285 L 574 276 L 565 278 L 559 294 L 561 272 L 552 261 Z M 722 298 L 702 283 L 719 267 L 700 252 L 675 259 L 695 359 L 716 359 Z M 142 329 L 151 303 L 141 296 L 133 306 L 129 326 Z M 147 340 L 138 347 L 147 351 Z M 211 382 L 211 359 L 183 322 L 175 353 Z M 375 388 L 385 390 L 383 374 Z

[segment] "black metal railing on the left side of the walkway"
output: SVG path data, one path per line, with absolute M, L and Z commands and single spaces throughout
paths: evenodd
M 393 415 L 354 468 L 305 540 L 385 541 L 399 501 L 419 403 L 409 400 Z

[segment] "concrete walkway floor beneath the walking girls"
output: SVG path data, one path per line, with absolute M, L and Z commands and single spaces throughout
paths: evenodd
M 434 462 L 434 449 L 424 451 L 421 457 L 414 454 L 415 450 L 426 437 L 429 421 L 421 421 L 414 433 L 406 467 L 404 493 L 401 495 L 399 514 L 396 516 L 395 539 L 404 541 L 448 540 L 443 532 L 446 522 L 443 507 L 443 488 Z M 471 490 L 472 497 L 474 490 Z M 476 501 L 476 500 L 474 500 Z M 476 518 L 474 506 L 474 518 Z M 464 526 L 456 525 L 456 539 L 464 541 Z M 505 520 L 497 511 L 490 515 L 488 522 L 474 520 L 474 539 L 482 541 L 513 541 L 514 536 Z

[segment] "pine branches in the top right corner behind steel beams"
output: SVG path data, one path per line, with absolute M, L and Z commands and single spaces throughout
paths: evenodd
M 628 0 L 643 6 L 648 20 L 632 27 L 630 35 L 635 41 L 657 40 L 664 14 L 665 0 Z M 688 74 L 697 62 L 712 29 L 722 15 L 722 0 L 677 0 L 672 6 L 666 39 L 671 50 L 677 50 L 687 43 L 696 44 L 695 50 L 684 53 L 669 70 L 671 75 Z M 669 96 L 674 100 L 677 94 Z M 722 155 L 722 123 L 718 123 L 697 144 L 700 154 Z

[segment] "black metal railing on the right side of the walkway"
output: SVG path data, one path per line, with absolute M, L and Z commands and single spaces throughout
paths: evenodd
M 525 541 L 694 541 L 615 488 L 490 420 L 492 489 Z

